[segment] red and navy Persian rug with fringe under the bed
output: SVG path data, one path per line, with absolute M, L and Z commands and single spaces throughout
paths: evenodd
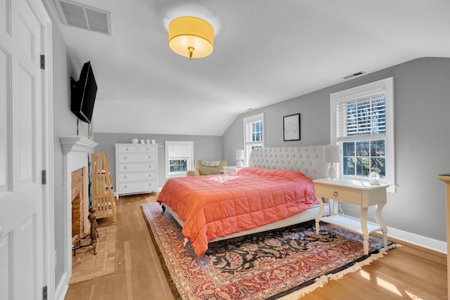
M 361 235 L 309 221 L 212 242 L 199 260 L 160 204 L 141 209 L 176 299 L 298 299 L 397 246 L 371 236 L 364 255 Z

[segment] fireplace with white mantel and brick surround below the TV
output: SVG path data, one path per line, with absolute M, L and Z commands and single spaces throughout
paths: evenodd
M 90 222 L 86 214 L 89 208 L 88 170 L 91 153 L 97 143 L 84 136 L 60 136 L 60 142 L 63 147 L 63 226 L 66 241 L 63 261 L 65 281 L 68 283 L 72 276 L 72 216 L 77 224 L 74 228 L 79 227 L 77 233 L 84 235 L 89 230 Z M 74 204 L 72 200 L 79 203 Z M 82 211 L 72 214 L 72 204 L 77 209 L 82 207 Z

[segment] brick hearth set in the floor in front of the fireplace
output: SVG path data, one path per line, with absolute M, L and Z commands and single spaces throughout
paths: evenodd
M 69 285 L 115 273 L 115 235 L 117 226 L 98 227 L 97 254 L 94 249 L 77 249 L 72 256 L 72 277 Z

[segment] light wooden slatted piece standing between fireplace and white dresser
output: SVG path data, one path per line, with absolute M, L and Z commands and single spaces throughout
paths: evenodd
M 106 153 L 92 154 L 92 206 L 96 208 L 96 219 L 112 216 L 116 221 L 113 181 Z

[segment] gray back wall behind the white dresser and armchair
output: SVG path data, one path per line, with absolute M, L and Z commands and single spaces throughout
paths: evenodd
M 94 121 L 95 122 L 95 121 Z M 94 126 L 95 128 L 95 126 Z M 94 132 L 94 141 L 98 143 L 94 152 L 106 153 L 110 163 L 111 178 L 115 183 L 115 143 L 131 143 L 132 138 L 148 140 L 153 139 L 159 144 L 158 151 L 158 185 L 160 188 L 167 181 L 165 177 L 165 141 L 193 141 L 194 159 L 222 159 L 221 136 L 176 136 L 164 134 L 143 133 L 101 133 Z

